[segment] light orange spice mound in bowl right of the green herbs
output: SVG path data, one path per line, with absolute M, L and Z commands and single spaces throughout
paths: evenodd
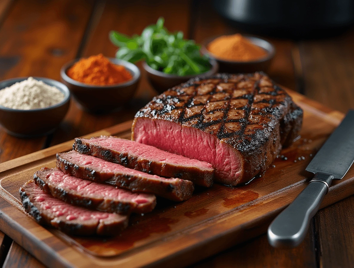
M 210 42 L 207 50 L 217 58 L 229 61 L 255 61 L 267 56 L 267 51 L 241 34 L 220 36 Z

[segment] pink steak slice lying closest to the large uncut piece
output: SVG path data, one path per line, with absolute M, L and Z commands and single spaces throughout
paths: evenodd
M 73 148 L 81 154 L 93 155 L 149 174 L 187 179 L 206 187 L 211 186 L 213 181 L 214 170 L 207 162 L 171 154 L 127 139 L 112 136 L 75 138 Z

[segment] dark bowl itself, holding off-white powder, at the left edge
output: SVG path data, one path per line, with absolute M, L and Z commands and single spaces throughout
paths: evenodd
M 4 80 L 0 82 L 0 89 L 4 89 L 27 78 L 21 77 Z M 49 78 L 33 78 L 41 80 L 50 86 L 55 86 L 63 92 L 64 99 L 53 106 L 32 110 L 19 110 L 0 106 L 0 124 L 12 136 L 24 138 L 47 135 L 57 128 L 68 112 L 70 91 L 67 86 Z

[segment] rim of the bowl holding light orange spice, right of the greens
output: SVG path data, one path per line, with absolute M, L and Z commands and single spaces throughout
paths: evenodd
M 210 58 L 213 58 L 213 59 L 216 59 L 217 61 L 219 62 L 223 62 L 223 63 L 235 63 L 235 64 L 256 64 L 256 63 L 263 63 L 263 62 L 266 62 L 266 61 L 269 61 L 270 59 L 274 58 L 275 56 L 275 53 L 276 53 L 276 50 L 275 50 L 275 46 L 272 44 L 272 42 L 270 42 L 268 39 L 265 39 L 263 37 L 260 37 L 260 36 L 257 36 L 257 35 L 251 35 L 251 34 L 241 34 L 243 37 L 249 39 L 251 42 L 252 39 L 259 39 L 259 40 L 262 40 L 262 41 L 265 41 L 267 42 L 270 47 L 271 47 L 271 50 L 268 51 L 266 50 L 264 47 L 262 47 L 262 49 L 266 50 L 267 51 L 267 56 L 263 57 L 263 58 L 260 58 L 260 59 L 257 59 L 257 60 L 254 60 L 254 61 L 229 61 L 229 60 L 226 60 L 226 59 L 221 59 L 221 58 L 218 58 L 216 57 L 213 53 L 211 53 L 208 49 L 207 49 L 207 46 L 210 44 L 211 41 L 215 40 L 216 38 L 218 37 L 221 37 L 221 36 L 225 36 L 225 35 L 233 35 L 233 34 L 221 34 L 221 35 L 214 35 L 214 36 L 211 36 L 207 39 L 205 39 L 201 44 L 201 49 L 200 51 L 204 54 L 204 55 L 207 55 L 209 56 Z M 252 42 L 253 43 L 253 42 Z M 253 43 L 254 45 L 257 45 L 255 43 Z M 258 45 L 257 45 L 258 46 Z

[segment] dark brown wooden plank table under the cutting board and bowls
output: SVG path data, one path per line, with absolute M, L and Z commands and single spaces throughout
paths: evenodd
M 159 16 L 165 17 L 169 30 L 182 30 L 197 42 L 237 32 L 203 0 L 2 0 L 0 78 L 32 75 L 60 80 L 59 70 L 70 59 L 98 53 L 113 57 L 116 47 L 108 40 L 110 30 L 140 34 Z M 354 29 L 323 40 L 270 40 L 277 53 L 268 73 L 276 82 L 341 112 L 354 108 Z M 0 128 L 0 161 L 131 119 L 154 95 L 143 73 L 136 98 L 124 112 L 92 115 L 73 101 L 65 121 L 52 135 L 19 139 Z M 354 267 L 353 215 L 351 196 L 320 210 L 296 249 L 274 249 L 261 235 L 192 267 Z M 43 267 L 1 232 L 0 244 L 2 267 Z

